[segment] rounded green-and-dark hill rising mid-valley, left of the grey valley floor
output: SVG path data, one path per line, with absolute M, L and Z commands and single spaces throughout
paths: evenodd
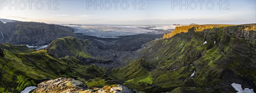
M 81 40 L 72 36 L 67 36 L 55 39 L 51 44 L 49 44 L 46 50 L 47 53 L 52 54 L 57 58 L 65 57 L 67 55 L 88 58 L 91 55 L 85 52 L 85 49 L 89 45 L 89 40 Z

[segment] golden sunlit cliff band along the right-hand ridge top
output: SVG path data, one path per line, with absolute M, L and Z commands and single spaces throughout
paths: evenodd
M 202 31 L 205 29 L 215 28 L 215 27 L 226 27 L 226 26 L 232 26 L 232 25 L 188 25 L 188 26 L 180 26 L 175 27 L 175 30 L 172 31 L 172 33 L 164 34 L 163 39 L 171 38 L 172 36 L 175 36 L 177 33 L 186 33 L 189 30 L 192 31 Z

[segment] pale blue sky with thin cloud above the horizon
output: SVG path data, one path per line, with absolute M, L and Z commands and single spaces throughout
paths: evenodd
M 248 24 L 256 23 L 256 0 L 0 0 L 0 18 L 53 24 Z

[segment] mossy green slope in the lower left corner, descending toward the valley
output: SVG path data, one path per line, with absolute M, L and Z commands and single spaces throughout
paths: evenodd
M 103 76 L 106 72 L 105 68 L 87 66 L 75 57 L 57 59 L 46 50 L 20 52 L 13 50 L 17 47 L 15 45 L 9 47 L 10 50 L 6 49 L 4 57 L 0 58 L 0 93 L 19 93 L 24 88 L 36 86 L 47 79 L 93 79 Z

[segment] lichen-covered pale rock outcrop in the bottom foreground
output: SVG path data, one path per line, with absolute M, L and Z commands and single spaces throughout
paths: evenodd
M 103 88 L 87 88 L 83 82 L 75 79 L 58 78 L 41 82 L 32 93 L 138 93 L 122 85 L 107 85 Z

